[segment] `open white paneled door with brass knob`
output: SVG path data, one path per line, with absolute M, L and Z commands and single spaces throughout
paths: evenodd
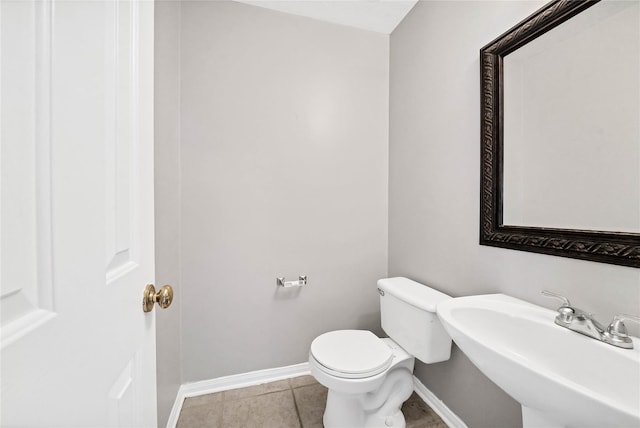
M 155 426 L 153 2 L 0 25 L 0 425 Z

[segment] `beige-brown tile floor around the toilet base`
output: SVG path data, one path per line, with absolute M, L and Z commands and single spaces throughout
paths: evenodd
M 322 428 L 326 400 L 324 386 L 300 376 L 187 398 L 177 428 Z M 415 393 L 402 412 L 407 428 L 447 428 Z

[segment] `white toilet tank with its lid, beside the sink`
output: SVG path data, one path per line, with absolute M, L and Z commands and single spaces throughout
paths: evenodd
M 408 278 L 378 280 L 382 329 L 405 351 L 423 363 L 446 361 L 451 337 L 436 315 L 436 306 L 451 299 Z

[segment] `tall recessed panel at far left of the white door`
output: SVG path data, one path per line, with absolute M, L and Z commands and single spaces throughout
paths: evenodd
M 48 180 L 48 11 L 2 5 L 2 343 L 53 315 Z M 7 103 L 5 100 L 10 100 Z M 4 326 L 7 326 L 4 328 Z

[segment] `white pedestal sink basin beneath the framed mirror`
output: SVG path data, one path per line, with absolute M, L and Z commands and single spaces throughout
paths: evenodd
M 637 338 L 632 350 L 616 348 L 504 294 L 446 300 L 437 312 L 480 371 L 522 404 L 525 427 L 640 427 Z

